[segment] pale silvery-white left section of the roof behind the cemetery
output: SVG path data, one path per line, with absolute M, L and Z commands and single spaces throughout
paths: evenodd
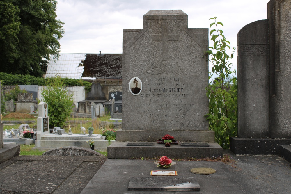
M 86 59 L 86 54 L 59 55 L 58 60 L 54 60 L 54 55 L 51 55 L 45 78 L 61 76 L 66 78 L 81 79 L 84 71 L 83 62 Z

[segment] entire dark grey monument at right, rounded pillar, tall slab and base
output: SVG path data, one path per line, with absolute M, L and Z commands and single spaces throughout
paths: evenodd
M 291 1 L 267 3 L 267 19 L 238 33 L 238 137 L 235 154 L 280 154 L 291 144 Z M 258 149 L 258 147 L 260 149 Z

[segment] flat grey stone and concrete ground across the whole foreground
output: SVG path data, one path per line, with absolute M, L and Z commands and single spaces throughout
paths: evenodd
M 290 193 L 291 166 L 278 156 L 241 156 L 224 150 L 223 159 L 179 159 L 169 170 L 195 177 L 200 191 L 142 193 Z M 107 159 L 106 156 L 16 156 L 0 164 L 0 193 L 141 193 L 128 191 L 132 176 L 157 170 L 153 159 Z M 210 175 L 191 168 L 208 167 Z

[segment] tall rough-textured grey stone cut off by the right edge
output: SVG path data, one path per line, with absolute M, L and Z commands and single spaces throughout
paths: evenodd
M 267 4 L 270 23 L 271 138 L 291 138 L 291 1 Z

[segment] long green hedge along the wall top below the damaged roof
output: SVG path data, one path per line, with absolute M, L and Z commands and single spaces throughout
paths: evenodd
M 49 79 L 49 78 L 47 78 Z M 34 77 L 31 75 L 12 75 L 7 74 L 4 72 L 0 72 L 0 80 L 2 85 L 11 86 L 11 85 L 38 85 L 38 86 L 45 86 L 45 81 L 42 77 Z M 91 84 L 88 81 L 84 81 L 81 79 L 69 79 L 69 78 L 62 78 L 64 86 L 87 86 L 85 87 L 90 88 Z

